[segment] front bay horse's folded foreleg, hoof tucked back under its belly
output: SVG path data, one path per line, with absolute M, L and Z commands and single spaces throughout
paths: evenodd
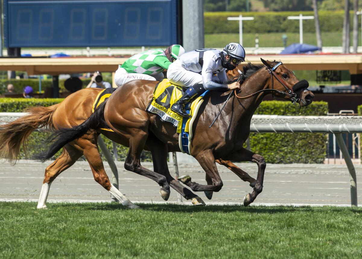
M 210 150 L 199 153 L 195 156 L 195 159 L 199 162 L 202 169 L 205 170 L 207 176 L 210 178 L 212 184 L 204 185 L 191 181 L 190 176 L 179 177 L 179 180 L 189 186 L 195 192 L 219 192 L 223 186 L 223 182 L 220 178 L 218 168 L 215 164 L 214 155 Z

